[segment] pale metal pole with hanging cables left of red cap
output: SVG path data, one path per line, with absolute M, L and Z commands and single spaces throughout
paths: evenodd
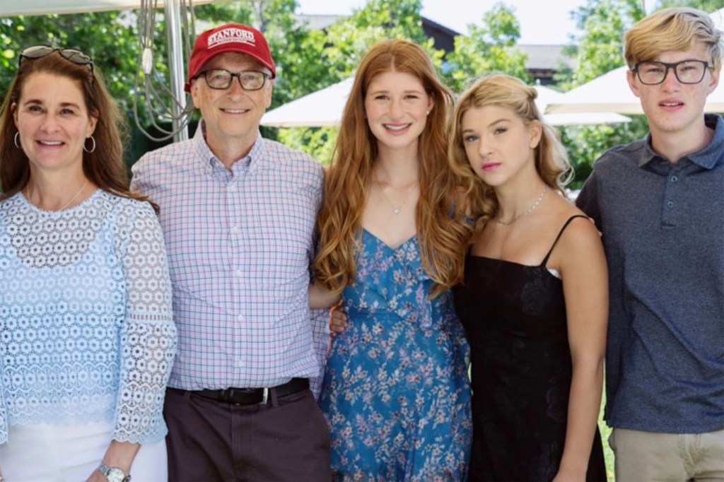
M 181 122 L 181 115 L 186 106 L 186 93 L 184 85 L 184 59 L 181 46 L 181 4 L 179 0 L 164 1 L 164 12 L 166 12 L 166 28 L 169 40 L 169 69 L 171 76 L 171 92 L 177 102 L 172 102 L 171 113 L 173 115 L 172 129 L 178 130 Z M 188 140 L 188 126 L 184 126 L 174 134 L 174 142 Z

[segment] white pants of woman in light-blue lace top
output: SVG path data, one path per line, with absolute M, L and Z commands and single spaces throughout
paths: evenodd
M 85 481 L 111 443 L 111 423 L 11 426 L 0 445 L 0 470 L 7 482 Z M 133 482 L 168 480 L 166 441 L 142 445 L 131 466 Z

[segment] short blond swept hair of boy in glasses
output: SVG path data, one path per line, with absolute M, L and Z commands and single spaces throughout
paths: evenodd
M 626 32 L 624 56 L 629 69 L 663 52 L 684 51 L 702 41 L 715 70 L 722 63 L 722 33 L 712 17 L 689 7 L 671 7 L 647 15 Z

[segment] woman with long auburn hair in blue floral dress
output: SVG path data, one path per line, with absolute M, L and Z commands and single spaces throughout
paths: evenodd
M 425 52 L 383 41 L 364 56 L 319 214 L 317 283 L 349 316 L 321 407 L 347 480 L 466 477 L 468 345 L 447 289 L 462 260 L 445 124 L 452 95 Z

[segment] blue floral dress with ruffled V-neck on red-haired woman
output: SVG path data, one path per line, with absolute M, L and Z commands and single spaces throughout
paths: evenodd
M 337 480 L 466 478 L 468 344 L 451 293 L 429 300 L 431 287 L 416 237 L 392 249 L 363 230 L 320 399 Z

